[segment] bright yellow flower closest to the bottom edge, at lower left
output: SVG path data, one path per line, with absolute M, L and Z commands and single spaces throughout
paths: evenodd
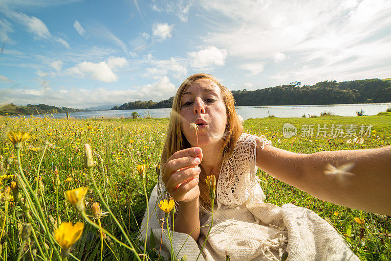
M 56 229 L 55 238 L 61 246 L 61 256 L 65 258 L 69 254 L 70 247 L 82 236 L 84 223 L 77 222 L 75 225 L 72 222 L 61 223 Z

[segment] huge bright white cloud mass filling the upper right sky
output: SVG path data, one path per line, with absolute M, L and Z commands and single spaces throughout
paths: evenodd
M 257 59 L 266 67 L 271 61 L 286 61 L 289 57 L 288 69 L 283 64 L 271 67 L 274 76 L 300 72 L 308 78 L 316 71 L 318 76 L 312 79 L 320 75 L 329 79 L 332 75 L 342 77 L 371 70 L 363 69 L 357 60 L 379 67 L 379 72 L 391 70 L 387 49 L 391 42 L 387 33 L 391 24 L 389 0 L 202 0 L 200 5 L 203 18 L 218 18 L 202 38 L 205 44 L 227 49 L 230 56 L 244 64 Z M 377 48 L 367 49 L 370 46 Z M 383 55 L 380 60 L 377 53 Z M 250 70 L 252 66 L 244 67 Z M 254 69 L 250 71 L 257 74 Z

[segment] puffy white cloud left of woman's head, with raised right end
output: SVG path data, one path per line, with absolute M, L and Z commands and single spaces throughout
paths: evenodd
M 123 57 L 110 57 L 107 61 L 100 63 L 82 62 L 75 67 L 66 70 L 67 74 L 75 77 L 90 78 L 103 82 L 116 82 L 118 75 L 112 70 L 124 67 L 128 61 Z

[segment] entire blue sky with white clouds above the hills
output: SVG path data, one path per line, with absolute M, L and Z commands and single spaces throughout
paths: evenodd
M 391 0 L 2 0 L 0 105 L 86 108 L 391 77 Z

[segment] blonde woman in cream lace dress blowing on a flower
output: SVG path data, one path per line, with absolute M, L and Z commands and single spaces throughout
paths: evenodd
M 391 146 L 312 154 L 273 147 L 264 136 L 243 134 L 233 95 L 209 74 L 192 75 L 179 87 L 161 162 L 159 186 L 152 191 L 149 206 L 154 209 L 157 201 L 167 198 L 167 189 L 177 203 L 174 252 L 191 235 L 194 240 L 186 241 L 178 255 L 190 260 L 198 255 L 209 230 L 199 227 L 211 223 L 207 175 L 217 180 L 217 208 L 202 253 L 206 260 L 225 260 L 225 250 L 232 260 L 279 260 L 284 251 L 290 260 L 358 260 L 345 240 L 312 211 L 264 203 L 257 167 L 317 198 L 391 214 Z M 327 170 L 328 164 L 348 164 L 350 169 Z M 164 213 L 151 212 L 149 225 L 160 241 L 158 220 Z M 144 237 L 146 224 L 144 216 Z M 168 257 L 169 249 L 163 234 L 162 254 Z

